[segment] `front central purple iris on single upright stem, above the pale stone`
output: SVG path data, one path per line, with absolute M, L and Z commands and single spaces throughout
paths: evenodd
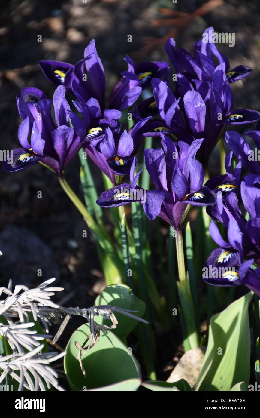
M 153 220 L 164 219 L 175 230 L 179 230 L 187 212 L 187 205 L 207 206 L 215 203 L 215 193 L 202 186 L 204 171 L 195 155 L 203 139 L 191 145 L 179 141 L 176 145 L 165 135 L 162 147 L 144 152 L 146 170 L 156 190 L 146 191 L 136 186 L 139 172 L 134 177 L 133 164 L 130 171 L 131 184 L 122 184 L 103 192 L 97 204 L 102 207 L 122 206 L 138 201 L 143 205 L 146 216 Z

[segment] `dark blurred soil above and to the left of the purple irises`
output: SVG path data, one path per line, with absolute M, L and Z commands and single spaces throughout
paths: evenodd
M 109 94 L 126 70 L 126 54 L 135 63 L 167 61 L 164 43 L 169 37 L 192 52 L 208 26 L 217 32 L 235 32 L 233 48 L 218 47 L 230 59 L 231 68 L 245 64 L 254 72 L 232 84 L 234 107 L 260 110 L 258 0 L 10 0 L 0 7 L 1 150 L 18 146 L 20 118 L 15 97 L 19 90 L 35 86 L 52 97 L 54 87 L 43 76 L 38 61 L 75 64 L 93 38 Z M 37 41 L 39 34 L 42 42 Z M 128 35 L 132 42 L 127 41 Z M 91 167 L 99 182 L 100 173 Z M 78 173 L 75 158 L 66 178 L 82 197 Z M 103 191 L 101 183 L 99 187 Z M 37 198 L 38 191 L 42 191 L 42 199 Z M 86 225 L 53 173 L 40 164 L 19 173 L 7 174 L 1 169 L 0 195 L 0 286 L 6 286 L 9 278 L 31 287 L 56 277 L 65 287 L 68 305 L 91 306 L 104 287 L 96 247 L 90 233 L 87 240 L 82 238 Z M 166 240 L 168 229 L 162 227 L 161 233 Z M 169 357 L 165 352 L 162 362 Z

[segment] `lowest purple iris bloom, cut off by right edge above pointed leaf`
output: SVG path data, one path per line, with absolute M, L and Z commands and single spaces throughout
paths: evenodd
M 220 246 L 208 257 L 205 267 L 207 273 L 217 268 L 215 276 L 202 275 L 204 281 L 218 286 L 246 285 L 260 295 L 260 268 L 253 270 L 253 263 L 260 265 L 260 189 L 241 182 L 242 202 L 250 219 L 240 211 L 237 196 L 230 193 L 222 201 L 221 192 L 217 194 L 212 217 L 225 224 L 228 242 L 223 240 L 217 225 L 210 223 L 210 234 Z

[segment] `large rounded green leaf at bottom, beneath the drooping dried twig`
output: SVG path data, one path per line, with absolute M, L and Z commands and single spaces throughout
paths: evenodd
M 71 390 L 135 391 L 141 384 L 140 367 L 121 340 L 111 331 L 103 333 L 95 346 L 81 356 L 86 377 L 79 364 L 79 350 L 90 333 L 89 324 L 73 332 L 66 347 L 64 370 Z

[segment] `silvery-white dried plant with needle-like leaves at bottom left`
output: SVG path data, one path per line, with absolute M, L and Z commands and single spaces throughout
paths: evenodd
M 25 388 L 31 391 L 46 390 L 46 387 L 49 389 L 51 386 L 57 390 L 63 390 L 58 384 L 58 373 L 50 367 L 50 363 L 63 357 L 65 352 L 59 354 L 56 352 L 41 352 L 44 347 L 41 342 L 51 337 L 49 327 L 52 323 L 59 324 L 63 320 L 53 339 L 53 344 L 55 344 L 72 315 L 86 318 L 90 324 L 90 335 L 86 342 L 91 339 L 87 349 L 91 349 L 98 342 L 100 331 L 116 328 L 118 321 L 114 312 L 146 323 L 144 319 L 133 315 L 136 311 L 129 311 L 111 305 L 83 309 L 60 306 L 50 300 L 50 296 L 53 296 L 55 292 L 64 290 L 60 287 L 49 286 L 54 281 L 55 278 L 46 280 L 34 289 L 17 285 L 12 291 L 12 281 L 10 280 L 8 288 L 0 288 L 0 298 L 3 294 L 8 295 L 5 299 L 0 299 L 0 336 L 5 337 L 13 350 L 13 354 L 0 355 L 0 369 L 2 370 L 0 383 L 9 375 L 19 382 L 19 391 Z M 33 315 L 34 321 L 39 321 L 42 324 L 45 334 L 38 334 L 37 331 L 31 329 L 34 322 L 30 321 L 30 313 Z M 94 321 L 94 316 L 99 315 L 103 316 L 104 319 L 111 319 L 112 325 L 97 324 Z M 3 318 L 5 323 L 3 323 Z M 79 344 L 77 347 L 80 350 L 78 359 L 81 363 L 81 352 L 86 349 L 80 347 Z

